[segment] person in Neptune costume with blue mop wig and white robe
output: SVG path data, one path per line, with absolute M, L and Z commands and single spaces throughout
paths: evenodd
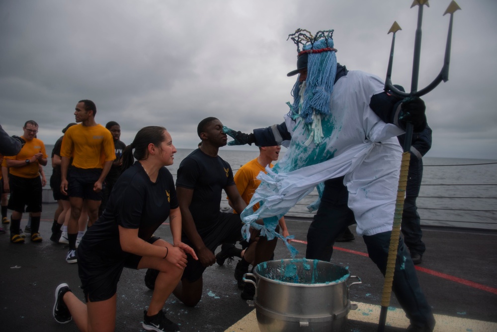
M 319 207 L 317 226 L 322 228 L 315 231 L 326 235 L 326 230 L 336 228 L 339 233 L 348 224 L 333 219 L 337 208 L 332 202 L 336 188 L 346 186 L 345 208 L 353 212 L 357 234 L 385 274 L 402 155 L 396 136 L 404 133 L 408 121 L 414 124 L 414 131 L 424 129 L 424 102 L 417 97 L 400 100 L 384 91 L 379 77 L 348 71 L 338 64 L 332 34 L 333 30 L 312 35 L 298 29 L 289 36 L 297 45 L 298 58 L 297 70 L 288 76 L 298 73 L 299 77 L 283 123 L 250 134 L 224 128 L 234 138 L 230 145 L 283 144 L 288 148 L 272 169 L 266 169 L 267 174 L 258 175 L 261 184 L 241 214 L 243 235 L 248 238 L 252 226 L 261 229 L 268 240 L 283 238 L 274 232 L 278 219 L 316 187 L 320 199 L 309 210 Z M 257 203 L 260 208 L 253 211 Z M 264 225 L 257 224 L 258 219 L 263 219 Z M 283 240 L 294 257 L 297 251 Z M 317 243 L 309 240 L 308 246 L 325 248 L 329 244 L 320 241 L 334 242 L 334 238 L 318 237 Z M 319 255 L 318 250 L 310 253 L 308 249 L 306 258 L 314 259 L 314 255 Z M 408 331 L 433 331 L 435 320 L 402 238 L 393 290 L 410 319 Z

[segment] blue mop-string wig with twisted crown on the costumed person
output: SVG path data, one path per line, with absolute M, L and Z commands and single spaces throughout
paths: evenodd
M 302 34 L 302 31 L 308 34 Z M 307 79 L 302 106 L 301 83 L 297 79 L 292 91 L 294 102 L 289 115 L 294 118 L 300 116 L 310 125 L 314 116 L 323 117 L 331 112 L 330 97 L 336 75 L 336 50 L 333 48 L 333 30 L 318 31 L 315 37 L 307 30 L 298 29 L 295 34 L 297 33 L 298 38 L 294 37 L 292 40 L 297 44 L 299 57 L 308 56 Z M 305 38 L 302 37 L 304 35 Z M 306 42 L 303 43 L 302 40 Z M 303 45 L 302 51 L 299 44 Z

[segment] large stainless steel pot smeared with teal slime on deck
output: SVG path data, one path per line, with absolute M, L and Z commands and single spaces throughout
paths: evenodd
M 358 281 L 347 285 L 349 278 Z M 255 286 L 248 302 L 262 332 L 344 331 L 348 312 L 357 308 L 349 287 L 362 283 L 339 265 L 305 258 L 260 263 L 244 280 Z

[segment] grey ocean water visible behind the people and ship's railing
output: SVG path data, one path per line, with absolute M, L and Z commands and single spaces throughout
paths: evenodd
M 52 148 L 53 145 L 46 146 L 49 156 Z M 281 156 L 284 150 L 281 150 Z M 181 160 L 191 151 L 178 149 L 174 164 L 167 166 L 174 178 Z M 219 155 L 236 172 L 257 157 L 258 151 L 221 148 Z M 52 174 L 51 160 L 48 159 L 44 168 L 47 181 Z M 417 199 L 421 224 L 497 230 L 497 160 L 425 157 L 423 163 L 423 180 Z M 287 216 L 312 218 L 313 214 L 306 207 L 316 199 L 317 192 L 314 191 Z M 221 207 L 227 208 L 227 201 L 221 202 Z

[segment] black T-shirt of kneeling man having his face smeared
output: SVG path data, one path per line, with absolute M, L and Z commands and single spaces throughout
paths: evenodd
M 190 212 L 200 229 L 218 220 L 222 191 L 235 186 L 235 181 L 229 163 L 220 156 L 211 157 L 196 149 L 181 161 L 176 186 L 193 189 Z

